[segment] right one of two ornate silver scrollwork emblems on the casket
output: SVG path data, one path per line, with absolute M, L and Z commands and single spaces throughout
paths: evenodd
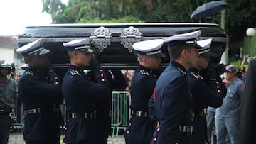
M 138 28 L 130 26 L 129 28 L 124 28 L 124 31 L 122 31 L 120 38 L 121 45 L 124 45 L 124 48 L 127 48 L 129 52 L 132 52 L 132 45 L 142 40 L 142 33 L 139 32 Z

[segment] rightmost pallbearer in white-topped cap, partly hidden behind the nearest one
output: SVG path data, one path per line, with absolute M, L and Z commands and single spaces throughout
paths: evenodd
M 220 75 L 217 75 L 217 67 L 213 67 L 213 64 L 208 66 L 211 39 L 201 40 L 198 43 L 201 43 L 203 48 L 198 49 L 199 56 L 196 67 L 188 70 L 188 87 L 193 99 L 192 142 L 193 144 L 205 144 L 205 140 L 208 140 L 206 135 L 206 108 L 207 106 L 215 108 L 221 106 L 225 93 L 222 93 L 220 88 L 225 86 L 220 80 Z M 206 69 L 207 67 L 208 69 Z M 201 70 L 206 74 L 201 76 L 199 72 Z M 206 75 L 208 77 L 204 77 Z

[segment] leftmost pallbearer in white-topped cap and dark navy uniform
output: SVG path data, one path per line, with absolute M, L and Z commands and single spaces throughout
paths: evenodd
M 18 80 L 26 144 L 60 143 L 62 115 L 59 106 L 63 104 L 60 79 L 48 66 L 50 50 L 43 47 L 43 42 L 40 38 L 16 50 L 28 63 L 28 68 Z

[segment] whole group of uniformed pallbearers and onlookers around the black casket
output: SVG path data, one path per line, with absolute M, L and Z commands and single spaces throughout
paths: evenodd
M 100 67 L 92 38 L 72 40 L 63 43 L 70 57 L 63 79 L 48 63 L 50 50 L 43 38 L 23 45 L 16 51 L 26 64 L 18 74 L 14 65 L 0 60 L 0 144 L 8 142 L 17 98 L 23 104 L 26 144 L 60 143 L 61 127 L 65 143 L 107 144 L 111 94 L 117 89 L 131 94 L 127 144 L 211 143 L 213 129 L 218 144 L 239 143 L 247 72 L 211 62 L 212 40 L 198 40 L 200 35 L 193 31 L 134 43 L 139 67 L 123 71 Z M 164 43 L 170 57 L 166 68 L 161 67 L 167 56 L 161 50 Z

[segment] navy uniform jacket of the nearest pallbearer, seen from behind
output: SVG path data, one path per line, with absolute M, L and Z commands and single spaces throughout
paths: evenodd
M 192 125 L 186 69 L 171 60 L 156 82 L 155 91 L 156 118 L 160 124 L 153 143 L 191 143 L 191 134 L 179 131 L 179 125 Z

